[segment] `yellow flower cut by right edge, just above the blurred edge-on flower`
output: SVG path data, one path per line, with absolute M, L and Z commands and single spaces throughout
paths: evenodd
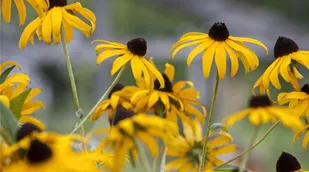
M 289 103 L 289 107 L 297 115 L 309 116 L 309 85 L 305 84 L 300 91 L 280 93 L 277 97 L 279 105 Z

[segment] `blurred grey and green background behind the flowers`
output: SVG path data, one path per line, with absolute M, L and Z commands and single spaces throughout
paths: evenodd
M 309 49 L 308 0 L 84 0 L 82 3 L 96 14 L 97 30 L 88 39 L 76 31 L 74 40 L 68 47 L 85 113 L 89 112 L 113 80 L 109 75 L 112 59 L 100 66 L 95 64 L 94 46 L 90 45 L 95 39 L 126 43 L 132 38 L 144 37 L 148 42 L 146 56 L 153 56 L 161 70 L 166 62 L 174 64 L 176 80 L 193 81 L 200 90 L 201 102 L 208 110 L 215 79 L 214 71 L 209 80 L 203 79 L 200 56 L 188 68 L 186 55 L 190 48 L 182 50 L 174 60 L 169 59 L 167 55 L 171 45 L 186 32 L 207 33 L 214 22 L 226 23 L 233 36 L 252 37 L 265 43 L 270 50 L 267 56 L 262 48 L 249 45 L 260 57 L 257 70 L 246 75 L 240 69 L 235 78 L 227 75 L 220 82 L 215 122 L 246 108 L 254 82 L 274 61 L 272 50 L 278 36 L 292 38 L 302 50 Z M 26 23 L 29 23 L 36 14 L 32 10 L 27 12 Z M 14 8 L 13 13 L 10 24 L 1 23 L 0 61 L 14 60 L 21 64 L 22 71 L 31 76 L 31 86 L 43 89 L 37 99 L 44 101 L 46 107 L 35 116 L 46 124 L 49 131 L 69 133 L 74 128 L 76 117 L 62 47 L 47 46 L 36 41 L 35 46 L 28 45 L 20 50 L 18 41 L 24 27 L 18 26 Z M 301 85 L 308 83 L 309 72 L 304 68 L 300 71 L 306 77 Z M 134 84 L 131 72 L 125 72 L 120 81 L 123 84 Z M 282 91 L 292 90 L 284 81 L 281 83 L 284 85 Z M 272 93 L 276 97 L 278 91 L 272 90 Z M 107 125 L 107 116 L 103 115 L 97 123 L 87 124 L 86 129 Z M 259 136 L 269 127 L 270 125 L 262 126 Z M 253 127 L 246 120 L 230 130 L 240 151 L 248 146 L 248 138 L 252 132 Z M 301 141 L 293 144 L 292 138 L 293 132 L 290 129 L 276 128 L 250 154 L 249 169 L 255 172 L 275 171 L 277 158 L 282 151 L 295 155 L 301 161 L 303 169 L 309 169 L 309 148 L 301 149 Z

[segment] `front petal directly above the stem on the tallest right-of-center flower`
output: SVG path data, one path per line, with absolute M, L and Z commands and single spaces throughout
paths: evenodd
M 226 52 L 223 43 L 219 43 L 219 45 L 217 46 L 215 62 L 219 78 L 224 79 L 226 73 Z

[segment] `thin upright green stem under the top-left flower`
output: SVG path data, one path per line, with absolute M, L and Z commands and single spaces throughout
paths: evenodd
M 75 106 L 76 106 L 76 110 L 78 111 L 80 109 L 80 105 L 79 105 L 79 100 L 78 100 L 78 94 L 77 94 L 72 64 L 71 64 L 71 60 L 70 60 L 70 56 L 69 56 L 69 51 L 68 51 L 67 45 L 65 43 L 64 30 L 61 31 L 61 42 L 62 42 L 65 60 L 67 62 L 67 68 L 68 68 L 68 71 L 69 71 L 69 77 L 70 77 L 70 82 L 71 82 L 71 87 L 72 87 L 74 103 L 75 103 Z

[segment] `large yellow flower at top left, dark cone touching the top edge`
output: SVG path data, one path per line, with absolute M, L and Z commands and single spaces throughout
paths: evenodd
M 34 19 L 23 31 L 19 48 L 25 48 L 30 41 L 34 44 L 34 35 L 47 44 L 58 44 L 63 32 L 66 42 L 73 39 L 74 28 L 89 37 L 95 30 L 96 17 L 92 11 L 83 8 L 81 3 L 67 4 L 66 0 L 28 0 L 35 8 L 38 17 Z M 91 25 L 79 19 L 76 14 L 84 17 Z

